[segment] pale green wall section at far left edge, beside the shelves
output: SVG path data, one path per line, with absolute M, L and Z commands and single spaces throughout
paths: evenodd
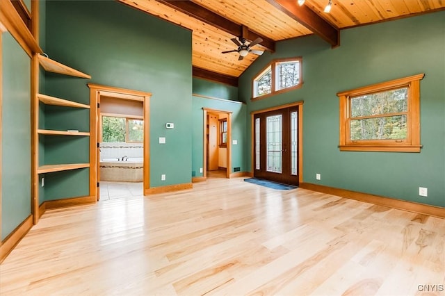
M 31 58 L 3 33 L 1 240 L 31 215 Z

